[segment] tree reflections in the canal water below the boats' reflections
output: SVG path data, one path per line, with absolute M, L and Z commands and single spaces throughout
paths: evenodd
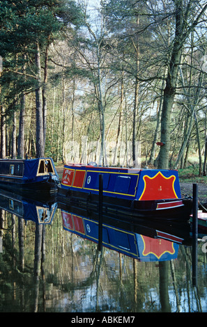
M 1 312 L 207 312 L 206 254 L 192 287 L 192 248 L 177 260 L 139 262 L 63 229 L 1 210 Z

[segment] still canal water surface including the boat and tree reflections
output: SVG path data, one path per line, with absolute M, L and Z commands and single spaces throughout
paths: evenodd
M 174 242 L 155 238 L 162 222 L 104 215 L 98 245 L 98 213 L 5 194 L 0 312 L 207 312 L 206 239 L 194 286 L 189 223 L 166 224 Z

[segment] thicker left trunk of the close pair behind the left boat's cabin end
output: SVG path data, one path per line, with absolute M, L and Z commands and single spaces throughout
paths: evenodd
M 38 76 L 38 87 L 36 88 L 36 157 L 41 158 L 45 155 L 44 133 L 43 133 L 43 92 L 41 88 L 41 66 L 40 66 L 40 47 L 36 43 L 36 68 Z

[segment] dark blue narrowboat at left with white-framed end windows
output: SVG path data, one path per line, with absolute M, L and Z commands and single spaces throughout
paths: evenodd
M 59 175 L 52 158 L 1 159 L 0 188 L 30 193 L 55 193 Z

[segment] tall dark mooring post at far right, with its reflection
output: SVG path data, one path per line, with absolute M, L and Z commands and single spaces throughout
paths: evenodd
M 192 285 L 197 287 L 198 278 L 198 185 L 192 188 Z

